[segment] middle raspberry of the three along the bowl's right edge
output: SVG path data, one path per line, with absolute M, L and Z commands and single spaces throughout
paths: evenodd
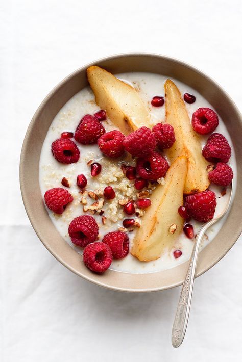
M 223 135 L 213 133 L 203 147 L 202 154 L 209 162 L 227 163 L 231 156 L 231 148 Z

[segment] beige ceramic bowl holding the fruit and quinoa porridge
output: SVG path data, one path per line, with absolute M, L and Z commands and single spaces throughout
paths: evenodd
M 56 114 L 72 96 L 86 87 L 86 69 L 90 65 L 99 65 L 112 73 L 143 71 L 174 77 L 201 93 L 225 122 L 236 153 L 237 188 L 232 208 L 223 229 L 200 253 L 197 276 L 216 264 L 232 247 L 241 233 L 241 115 L 234 102 L 219 85 L 190 65 L 160 55 L 124 54 L 93 62 L 67 76 L 43 100 L 23 141 L 20 159 L 20 185 L 23 202 L 36 234 L 59 262 L 86 280 L 109 289 L 127 292 L 151 292 L 178 286 L 183 282 L 188 262 L 169 270 L 148 274 L 129 274 L 108 270 L 103 275 L 96 275 L 90 272 L 83 264 L 80 254 L 59 235 L 44 208 L 38 180 L 41 147 Z

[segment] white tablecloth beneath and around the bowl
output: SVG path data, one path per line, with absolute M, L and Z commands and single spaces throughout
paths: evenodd
M 36 108 L 93 59 L 125 51 L 174 56 L 213 77 L 241 108 L 241 2 L 12 0 L 1 3 L 0 27 L 0 360 L 241 360 L 241 239 L 196 280 L 186 337 L 175 350 L 180 289 L 119 293 L 72 274 L 35 235 L 18 180 Z

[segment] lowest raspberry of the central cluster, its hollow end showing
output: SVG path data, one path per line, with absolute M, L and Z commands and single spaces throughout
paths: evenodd
M 169 168 L 168 162 L 157 152 L 153 152 L 150 156 L 138 158 L 137 173 L 141 178 L 147 180 L 157 180 L 163 177 Z

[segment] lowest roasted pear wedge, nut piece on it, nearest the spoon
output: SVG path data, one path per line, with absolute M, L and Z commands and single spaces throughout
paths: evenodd
M 178 157 L 167 171 L 165 185 L 157 185 L 152 193 L 151 206 L 142 217 L 131 249 L 131 254 L 140 261 L 158 259 L 179 237 L 184 220 L 178 208 L 183 204 L 187 168 L 187 158 Z

